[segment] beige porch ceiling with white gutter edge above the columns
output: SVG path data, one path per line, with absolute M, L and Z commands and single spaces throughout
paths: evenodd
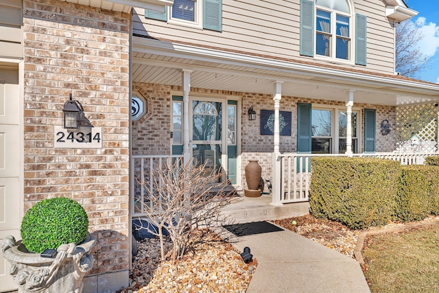
M 283 97 L 344 102 L 346 91 L 354 90 L 354 103 L 405 106 L 439 102 L 438 84 L 133 39 L 133 82 L 180 86 L 181 71 L 188 69 L 193 71 L 191 87 L 200 89 L 271 95 L 273 82 L 281 81 Z

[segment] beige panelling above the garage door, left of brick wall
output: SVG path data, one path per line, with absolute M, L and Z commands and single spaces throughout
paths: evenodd
M 20 58 L 21 49 L 21 1 L 0 0 L 0 56 Z

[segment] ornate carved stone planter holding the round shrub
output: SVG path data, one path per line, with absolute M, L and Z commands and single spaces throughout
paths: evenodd
M 84 275 L 93 267 L 93 255 L 89 255 L 96 239 L 88 233 L 85 241 L 62 244 L 56 257 L 41 257 L 29 253 L 21 241 L 7 236 L 1 242 L 3 257 L 11 263 L 10 274 L 19 285 L 19 293 L 81 293 Z

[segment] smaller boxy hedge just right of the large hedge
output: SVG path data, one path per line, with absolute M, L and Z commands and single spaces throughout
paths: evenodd
M 431 166 L 401 166 L 396 217 L 404 222 L 423 220 L 430 212 Z

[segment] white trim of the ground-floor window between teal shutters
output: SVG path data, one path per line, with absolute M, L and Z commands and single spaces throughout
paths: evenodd
M 340 121 L 338 119 L 338 113 L 340 111 L 346 112 L 346 107 L 344 106 L 332 106 L 332 105 L 324 105 L 324 104 L 311 104 L 311 115 L 312 115 L 312 110 L 331 110 L 332 113 L 332 126 L 331 126 L 331 132 L 332 132 L 332 152 L 331 154 L 338 154 L 338 148 L 339 148 L 339 140 L 340 140 L 340 136 L 339 136 L 339 131 L 338 131 L 338 126 L 340 124 Z M 357 152 L 361 152 L 361 145 L 362 145 L 362 137 L 361 134 L 363 133 L 363 116 L 362 116 L 362 108 L 358 108 L 358 107 L 352 107 L 352 112 L 356 112 L 357 113 Z M 313 138 L 313 136 L 311 135 L 311 139 Z

